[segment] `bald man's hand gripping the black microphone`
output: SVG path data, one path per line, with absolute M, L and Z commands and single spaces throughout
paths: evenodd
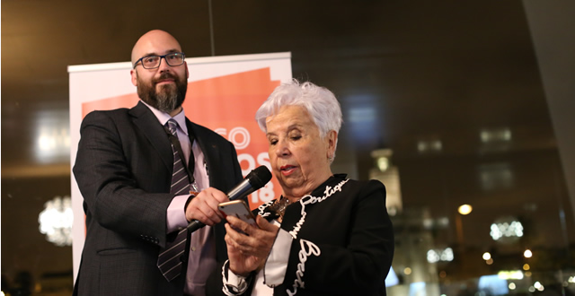
M 202 190 L 198 196 L 191 199 L 186 207 L 186 219 L 188 222 L 198 220 L 206 225 L 213 226 L 224 219 L 222 213 L 217 209 L 220 203 L 228 202 L 226 194 L 209 187 Z

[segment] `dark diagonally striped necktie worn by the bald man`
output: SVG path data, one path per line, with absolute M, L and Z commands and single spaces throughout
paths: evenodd
M 178 138 L 176 128 L 178 123 L 170 119 L 166 123 L 166 128 L 176 139 Z M 172 174 L 172 186 L 170 187 L 170 193 L 174 196 L 184 195 L 190 189 L 190 178 L 188 178 L 188 172 L 183 166 L 183 161 L 178 152 L 178 149 L 172 144 L 173 151 L 173 174 Z M 166 243 L 164 249 L 160 250 L 160 255 L 158 256 L 158 268 L 168 282 L 172 281 L 178 275 L 181 274 L 181 256 L 185 252 L 186 240 L 188 236 L 188 231 L 186 229 L 181 230 L 176 239 L 173 242 Z

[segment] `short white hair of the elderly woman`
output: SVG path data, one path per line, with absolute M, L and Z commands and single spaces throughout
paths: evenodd
M 322 138 L 332 130 L 340 134 L 341 107 L 332 91 L 310 82 L 299 83 L 296 79 L 282 83 L 255 113 L 255 120 L 264 133 L 268 132 L 266 118 L 277 115 L 284 106 L 301 106 L 306 109 Z

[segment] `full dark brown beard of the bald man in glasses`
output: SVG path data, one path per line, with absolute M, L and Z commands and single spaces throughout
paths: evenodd
M 160 87 L 160 90 L 155 91 L 156 83 L 168 78 L 172 78 L 175 85 L 164 84 Z M 186 98 L 187 90 L 188 83 L 181 81 L 178 76 L 173 74 L 164 73 L 158 79 L 152 80 L 151 83 L 145 83 L 137 76 L 137 96 L 144 100 L 146 104 L 168 114 L 181 106 Z

